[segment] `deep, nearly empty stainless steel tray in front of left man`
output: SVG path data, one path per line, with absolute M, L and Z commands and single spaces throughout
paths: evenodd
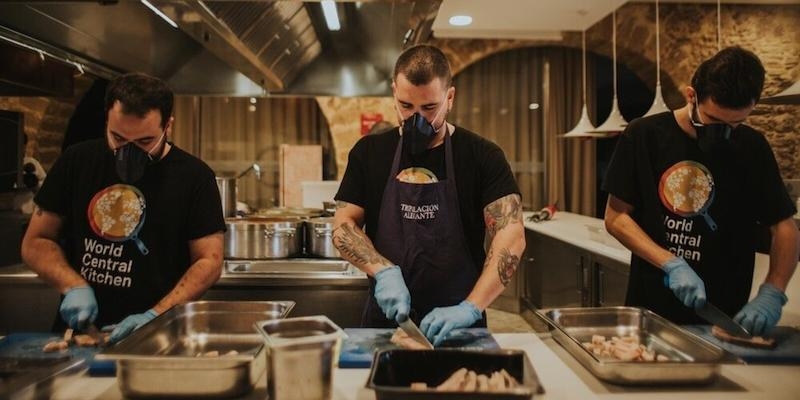
M 98 353 L 116 360 L 117 382 L 132 397 L 233 397 L 264 375 L 257 321 L 285 318 L 293 301 L 198 301 L 175 306 Z M 230 351 L 235 355 L 226 355 Z M 217 351 L 219 356 L 206 356 Z

